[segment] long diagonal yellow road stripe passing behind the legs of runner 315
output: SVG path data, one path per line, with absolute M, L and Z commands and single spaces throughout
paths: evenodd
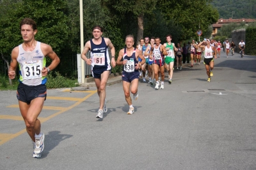
M 86 97 L 84 97 L 81 101 L 77 101 L 75 104 L 71 105 L 70 107 L 63 107 L 65 109 L 59 111 L 59 112 L 56 112 L 54 114 L 52 114 L 51 116 L 48 116 L 47 118 L 43 118 L 42 120 L 39 120 L 41 121 L 41 123 L 44 123 L 45 121 L 47 120 L 50 120 L 51 118 L 54 118 L 55 116 L 58 116 L 59 114 L 63 113 L 63 112 L 66 112 L 66 111 L 69 111 L 70 109 L 76 107 L 77 105 L 81 104 L 82 102 L 84 102 L 84 100 L 86 100 L 87 98 L 91 97 L 92 95 L 94 95 L 95 93 L 97 93 L 97 90 L 95 91 L 91 91 L 90 94 L 86 95 Z M 21 135 L 21 134 L 24 134 L 26 132 L 26 128 L 24 128 L 23 130 L 20 130 L 20 132 L 17 132 L 16 134 L 12 134 L 8 137 L 5 137 L 3 140 L 0 141 L 0 146 L 8 141 L 10 141 L 11 139 Z

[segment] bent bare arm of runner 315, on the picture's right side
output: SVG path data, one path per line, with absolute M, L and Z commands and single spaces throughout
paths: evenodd
M 44 56 L 48 56 L 52 59 L 51 65 L 47 66 L 49 70 L 54 70 L 56 66 L 60 63 L 60 58 L 57 56 L 57 54 L 52 50 L 52 47 L 46 43 L 41 43 L 41 49 L 44 53 Z M 46 67 L 42 70 L 42 76 L 46 76 L 48 74 L 48 70 Z

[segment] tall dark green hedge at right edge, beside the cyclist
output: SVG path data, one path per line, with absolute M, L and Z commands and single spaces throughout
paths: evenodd
M 248 27 L 245 32 L 246 54 L 256 55 L 256 27 Z

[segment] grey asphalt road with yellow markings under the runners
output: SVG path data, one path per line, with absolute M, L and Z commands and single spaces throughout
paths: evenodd
M 139 84 L 127 115 L 122 82 L 106 88 L 108 112 L 95 118 L 99 97 L 48 89 L 40 114 L 45 148 L 33 144 L 16 91 L 0 91 L 0 169 L 256 169 L 256 57 L 215 59 L 175 70 L 164 89 Z

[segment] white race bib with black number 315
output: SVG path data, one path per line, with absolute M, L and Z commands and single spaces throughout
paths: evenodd
M 38 79 L 42 77 L 42 60 L 23 63 L 24 79 Z

